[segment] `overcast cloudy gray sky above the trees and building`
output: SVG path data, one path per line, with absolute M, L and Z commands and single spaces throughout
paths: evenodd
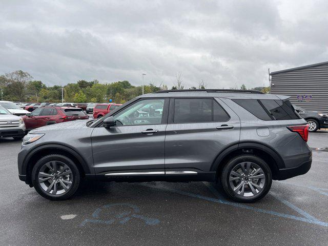
M 16 1 L 0 3 L 0 74 L 186 88 L 268 85 L 328 60 L 328 1 Z

